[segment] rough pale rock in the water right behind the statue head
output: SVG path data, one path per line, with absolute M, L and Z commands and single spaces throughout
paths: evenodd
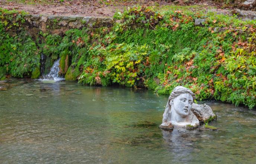
M 204 122 L 209 118 L 215 118 L 215 114 L 213 113 L 212 108 L 208 105 L 199 105 L 193 103 L 191 111 L 201 122 Z

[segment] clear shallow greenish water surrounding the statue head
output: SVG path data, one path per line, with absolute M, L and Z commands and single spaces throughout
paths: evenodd
M 256 111 L 220 102 L 217 131 L 158 128 L 167 95 L 0 81 L 0 163 L 256 163 Z

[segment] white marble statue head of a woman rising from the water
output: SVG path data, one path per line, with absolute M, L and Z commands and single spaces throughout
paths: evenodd
M 169 96 L 166 109 L 163 114 L 163 123 L 186 126 L 188 124 L 199 125 L 196 116 L 191 112 L 195 94 L 188 88 L 177 86 Z

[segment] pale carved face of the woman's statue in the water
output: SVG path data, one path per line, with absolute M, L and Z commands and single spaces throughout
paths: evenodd
M 179 96 L 174 98 L 170 103 L 173 103 L 172 109 L 174 109 L 177 114 L 179 114 L 182 117 L 186 117 L 191 111 L 193 97 L 190 94 L 180 94 Z

